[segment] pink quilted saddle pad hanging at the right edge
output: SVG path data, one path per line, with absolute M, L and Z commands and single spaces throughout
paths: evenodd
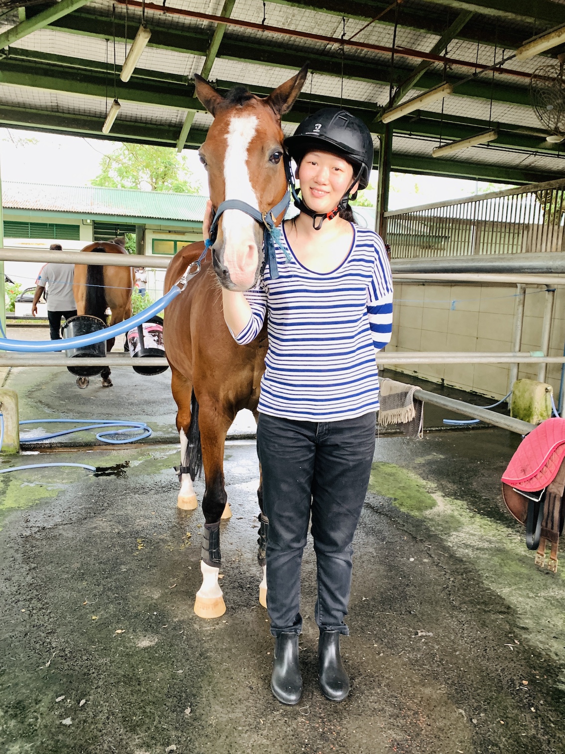
M 518 446 L 502 482 L 524 492 L 536 492 L 554 480 L 565 458 L 565 419 L 542 421 Z

